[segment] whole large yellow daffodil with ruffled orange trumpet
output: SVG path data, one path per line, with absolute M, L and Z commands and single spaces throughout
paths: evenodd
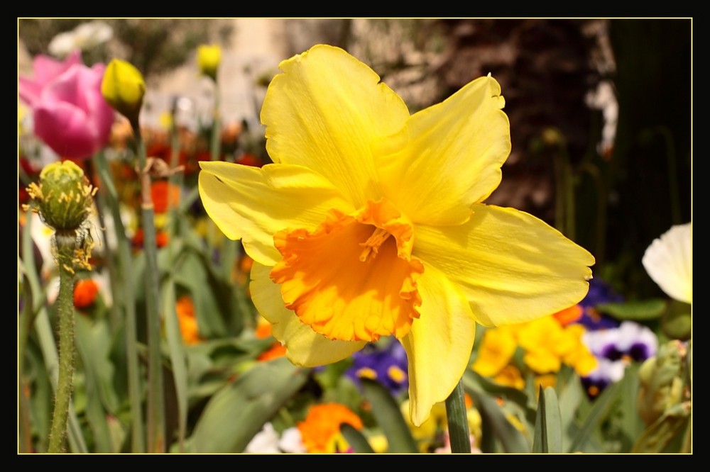
M 577 303 L 594 257 L 528 213 L 483 203 L 510 153 L 492 77 L 410 115 L 337 47 L 280 69 L 261 111 L 274 164 L 201 162 L 204 208 L 254 259 L 253 302 L 288 358 L 328 364 L 395 336 L 421 425 L 469 364 L 476 322 Z

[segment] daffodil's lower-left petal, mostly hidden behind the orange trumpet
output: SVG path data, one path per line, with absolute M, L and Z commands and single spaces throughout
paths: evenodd
M 278 284 L 269 278 L 271 269 L 254 263 L 249 289 L 254 306 L 271 322 L 271 334 L 285 345 L 286 357 L 293 364 L 305 367 L 332 364 L 367 344 L 361 341 L 333 341 L 300 322 L 293 311 L 285 308 Z

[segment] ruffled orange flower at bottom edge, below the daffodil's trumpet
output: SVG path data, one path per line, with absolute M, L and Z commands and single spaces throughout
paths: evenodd
M 308 409 L 305 420 L 296 426 L 308 452 L 335 452 L 342 444 L 340 425 L 347 423 L 362 429 L 362 420 L 352 410 L 339 403 L 323 403 Z

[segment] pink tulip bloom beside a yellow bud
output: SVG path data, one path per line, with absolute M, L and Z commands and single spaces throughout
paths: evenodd
M 87 67 L 80 52 L 64 62 L 39 55 L 34 78 L 20 77 L 20 98 L 31 106 L 34 132 L 62 157 L 91 157 L 109 140 L 114 110 L 104 100 L 104 64 Z

